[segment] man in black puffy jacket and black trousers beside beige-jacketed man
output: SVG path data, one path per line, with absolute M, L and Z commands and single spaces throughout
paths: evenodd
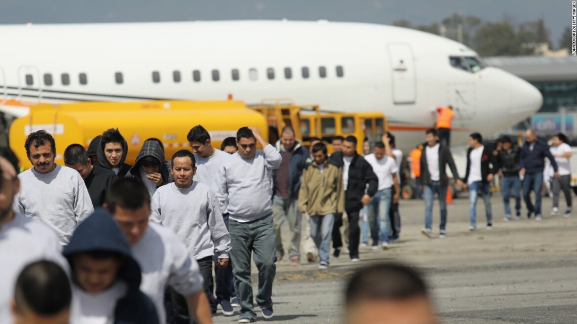
M 343 169 L 344 210 L 349 217 L 349 255 L 351 261 L 359 261 L 359 212 L 369 204 L 370 198 L 377 193 L 379 179 L 373 168 L 362 156 L 357 154 L 357 138 L 349 136 L 344 139 L 342 151 L 331 155 L 331 164 Z M 342 217 L 336 217 L 332 231 L 333 256 L 338 258 L 343 246 L 339 228 Z

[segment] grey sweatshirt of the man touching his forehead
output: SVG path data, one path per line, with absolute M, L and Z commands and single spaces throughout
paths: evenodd
M 225 159 L 216 176 L 216 198 L 220 210 L 239 223 L 263 218 L 272 213 L 272 170 L 282 158 L 272 145 L 257 150 L 251 159 L 235 153 Z

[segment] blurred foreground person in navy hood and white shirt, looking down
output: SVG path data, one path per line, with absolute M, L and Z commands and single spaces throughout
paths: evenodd
M 74 283 L 73 323 L 158 324 L 156 308 L 140 291 L 142 274 L 112 216 L 98 209 L 74 231 L 62 254 Z

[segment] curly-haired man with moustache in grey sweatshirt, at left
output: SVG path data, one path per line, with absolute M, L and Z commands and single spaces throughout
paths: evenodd
M 18 175 L 14 210 L 46 223 L 66 245 L 76 226 L 94 212 L 84 180 L 76 170 L 54 163 L 56 146 L 46 131 L 28 135 L 24 147 L 34 167 Z

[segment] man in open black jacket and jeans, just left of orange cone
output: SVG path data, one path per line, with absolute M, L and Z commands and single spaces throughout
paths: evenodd
M 425 132 L 426 146 L 421 155 L 421 186 L 424 187 L 425 197 L 425 228 L 423 235 L 428 238 L 433 237 L 433 199 L 434 194 L 439 195 L 439 205 L 441 209 L 441 225 L 439 238 L 446 237 L 447 226 L 447 187 L 449 177 L 447 176 L 447 165 L 451 168 L 453 178 L 459 186 L 462 185 L 457 173 L 455 161 L 451 155 L 451 150 L 447 145 L 439 142 L 439 135 L 436 129 L 429 129 Z

